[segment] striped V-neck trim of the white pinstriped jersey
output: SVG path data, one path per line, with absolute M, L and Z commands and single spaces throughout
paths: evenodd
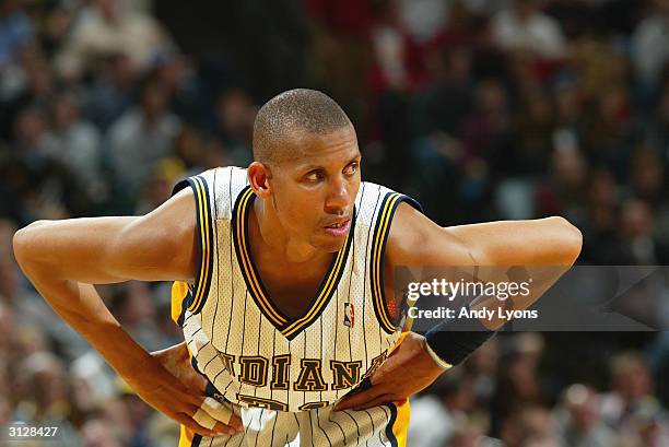
M 256 305 L 262 315 L 265 315 L 265 317 L 281 332 L 283 337 L 292 340 L 320 316 L 320 314 L 327 307 L 327 304 L 330 302 L 337 285 L 339 284 L 344 266 L 347 264 L 351 242 L 353 239 L 356 214 L 355 209 L 353 209 L 351 228 L 349 230 L 347 239 L 339 251 L 332 256 L 330 266 L 320 281 L 320 285 L 318 286 L 315 295 L 312 297 L 309 305 L 297 317 L 291 318 L 283 314 L 274 305 L 270 294 L 262 283 L 262 279 L 258 273 L 256 264 L 254 263 L 248 237 L 248 219 L 250 214 L 249 210 L 255 199 L 255 192 L 250 186 L 247 185 L 235 200 L 231 230 L 235 251 L 237 254 L 237 263 L 239 266 L 242 277 L 244 277 L 244 281 L 246 282 L 247 291 L 256 302 Z

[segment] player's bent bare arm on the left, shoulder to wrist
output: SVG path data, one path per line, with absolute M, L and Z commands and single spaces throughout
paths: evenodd
M 195 200 L 179 192 L 143 216 L 39 221 L 14 235 L 14 255 L 49 305 L 81 333 L 146 402 L 191 430 L 201 401 L 137 344 L 93 284 L 191 280 L 196 266 Z

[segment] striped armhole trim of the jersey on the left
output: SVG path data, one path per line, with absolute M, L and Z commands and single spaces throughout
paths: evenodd
M 196 279 L 191 286 L 190 293 L 185 294 L 185 305 L 181 306 L 181 322 L 183 315 L 186 310 L 191 314 L 197 314 L 202 309 L 209 286 L 211 285 L 211 274 L 213 267 L 213 224 L 214 220 L 211 215 L 211 203 L 209 196 L 209 187 L 207 180 L 201 175 L 188 177 L 175 185 L 172 195 L 176 195 L 186 187 L 190 187 L 196 201 Z M 176 285 L 176 283 L 175 283 Z M 174 286 L 173 286 L 174 298 Z M 186 304 L 187 303 L 187 304 Z M 173 316 L 174 316 L 173 303 Z M 177 321 L 179 324 L 179 321 Z

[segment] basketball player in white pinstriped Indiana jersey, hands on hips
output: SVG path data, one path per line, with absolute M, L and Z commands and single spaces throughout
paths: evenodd
M 394 268 L 571 266 L 580 250 L 561 217 L 443 228 L 412 199 L 361 183 L 353 126 L 319 92 L 262 106 L 254 157 L 184 180 L 146 215 L 40 221 L 14 237 L 56 311 L 183 424 L 179 446 L 403 445 L 406 398 L 494 327 L 399 343 Z M 183 345 L 151 355 L 120 327 L 92 284 L 127 280 L 176 280 Z M 187 386 L 185 364 L 201 386 Z

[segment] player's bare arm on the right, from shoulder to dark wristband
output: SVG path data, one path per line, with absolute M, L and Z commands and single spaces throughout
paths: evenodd
M 521 310 L 566 272 L 578 257 L 580 245 L 578 228 L 562 217 L 444 228 L 402 203 L 390 228 L 386 260 L 388 269 L 395 266 L 460 267 L 463 273 L 471 275 L 470 279 L 484 282 L 514 280 L 507 277 L 506 268 L 520 266 L 525 270 L 524 280 L 532 279 L 529 295 L 504 302 L 480 297 L 472 302 L 471 307 Z M 473 267 L 483 267 L 476 270 L 476 278 Z M 388 273 L 390 277 L 391 272 Z M 495 315 L 498 314 L 495 311 Z M 492 318 L 481 322 L 496 329 L 505 320 Z

